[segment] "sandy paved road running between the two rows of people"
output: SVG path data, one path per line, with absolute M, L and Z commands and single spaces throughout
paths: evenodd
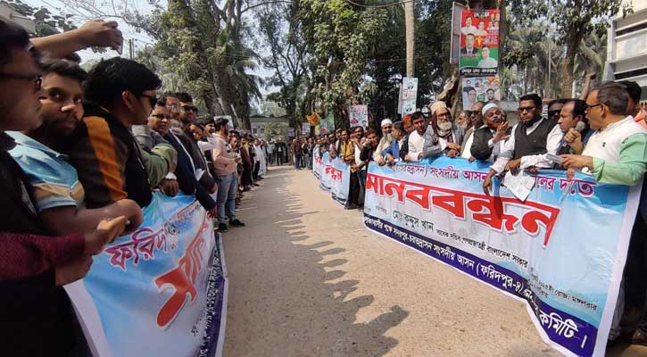
M 310 171 L 262 184 L 238 213 L 247 227 L 224 235 L 225 356 L 560 355 L 524 303 L 369 233 Z

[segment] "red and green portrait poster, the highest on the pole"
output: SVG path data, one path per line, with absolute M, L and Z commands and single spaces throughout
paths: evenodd
M 499 67 L 499 10 L 463 10 L 460 17 L 460 75 L 492 76 Z

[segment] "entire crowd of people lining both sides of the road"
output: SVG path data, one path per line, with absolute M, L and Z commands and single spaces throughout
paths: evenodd
M 604 83 L 585 100 L 552 100 L 546 114 L 539 95 L 523 95 L 516 124 L 494 101 L 477 102 L 456 120 L 444 102 L 435 102 L 428 117 L 413 112 L 381 120 L 378 129 L 336 129 L 286 144 L 236 131 L 227 119 L 198 120 L 191 95 L 158 93 L 162 80 L 141 63 L 115 57 L 84 71 L 73 55 L 120 41 L 110 21 L 41 38 L 0 21 L 0 83 L 11 88 L 0 94 L 0 286 L 11 292 L 0 298 L 0 348 L 9 355 L 84 348 L 62 286 L 83 278 L 104 245 L 139 227 L 155 191 L 195 195 L 216 229 L 227 232 L 245 226 L 236 207 L 269 165 L 311 169 L 315 152 L 350 165 L 347 209 L 362 209 L 369 162 L 391 166 L 441 156 L 490 162 L 487 195 L 494 177 L 507 171 L 581 171 L 604 183 L 643 183 L 647 124 L 635 82 Z M 647 345 L 645 197 L 613 342 L 633 322 L 630 341 Z

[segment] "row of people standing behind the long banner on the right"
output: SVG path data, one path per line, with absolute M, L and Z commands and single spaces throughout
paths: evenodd
M 468 111 L 460 112 L 456 120 L 444 102 L 435 102 L 429 105 L 429 117 L 413 112 L 402 120 L 382 120 L 379 130 L 336 129 L 316 136 L 315 147 L 320 155 L 328 152 L 350 165 L 347 209 L 362 209 L 369 162 L 394 165 L 441 156 L 489 162 L 483 183 L 486 195 L 490 195 L 494 177 L 502 178 L 508 171 L 532 174 L 539 170 L 567 170 L 571 178 L 578 171 L 599 182 L 636 186 L 643 184 L 647 166 L 647 124 L 641 94 L 635 82 L 607 82 L 585 93 L 585 100 L 552 100 L 545 112 L 539 95 L 523 95 L 518 101 L 519 120 L 515 124 L 507 120 L 506 112 L 494 101 L 477 102 Z M 647 303 L 644 191 L 610 345 L 618 341 L 647 345 L 647 308 L 643 308 Z

